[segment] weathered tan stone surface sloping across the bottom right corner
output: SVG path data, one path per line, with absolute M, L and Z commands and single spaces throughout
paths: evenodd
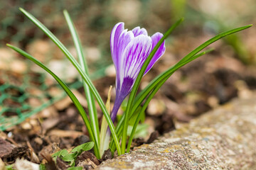
M 236 99 L 97 169 L 256 169 L 256 96 Z

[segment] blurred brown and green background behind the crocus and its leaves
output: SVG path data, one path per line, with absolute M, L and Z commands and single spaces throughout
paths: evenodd
M 107 90 L 110 85 L 114 85 L 115 79 L 110 54 L 110 33 L 116 23 L 124 22 L 125 28 L 129 30 L 140 26 L 146 28 L 149 35 L 153 35 L 155 32 L 164 33 L 178 18 L 185 17 L 181 26 L 166 40 L 166 53 L 144 77 L 143 87 L 157 74 L 214 35 L 254 24 L 256 21 L 255 0 L 1 1 L 2 130 L 23 122 L 34 113 L 45 111 L 48 106 L 63 98 L 63 92 L 55 86 L 53 79 L 44 74 L 42 69 L 8 49 L 6 43 L 21 47 L 47 64 L 82 94 L 80 84 L 76 84 L 79 78 L 73 66 L 58 47 L 23 16 L 18 7 L 38 18 L 75 56 L 73 40 L 63 16 L 63 10 L 68 10 L 78 29 L 91 77 L 95 79 L 95 86 L 105 100 Z M 256 88 L 255 45 L 255 26 L 210 45 L 215 48 L 214 52 L 183 67 L 164 84 L 149 104 L 146 123 L 154 125 L 160 133 L 167 132 L 174 128 L 172 122 L 188 122 L 232 98 L 252 95 Z M 114 89 L 112 101 L 113 99 Z M 68 103 L 62 108 L 55 108 L 55 112 L 66 113 L 70 106 Z M 49 112 L 54 115 L 53 111 Z M 9 121 L 7 118 L 16 119 L 4 124 Z M 149 130 L 151 131 L 154 128 Z

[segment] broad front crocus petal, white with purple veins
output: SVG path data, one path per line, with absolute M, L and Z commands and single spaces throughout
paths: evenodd
M 122 53 L 122 60 L 120 60 L 120 89 L 123 89 L 123 86 L 127 86 L 126 84 L 124 84 L 124 79 L 135 80 L 137 78 L 139 70 L 142 68 L 142 64 L 144 64 L 146 57 L 148 57 L 149 53 L 151 52 L 151 47 L 152 40 L 147 35 L 139 35 L 135 37 L 131 42 L 129 42 L 127 47 L 124 49 L 124 52 Z M 129 91 L 132 89 L 132 86 L 130 86 Z M 127 88 L 125 89 L 128 91 Z

